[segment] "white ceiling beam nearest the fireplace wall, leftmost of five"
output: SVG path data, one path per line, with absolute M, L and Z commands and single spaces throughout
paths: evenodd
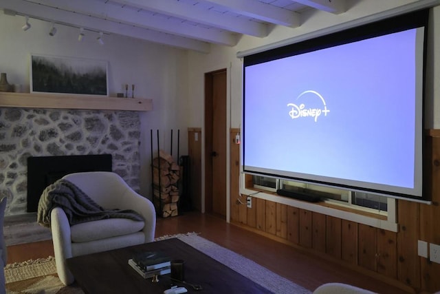
M 135 39 L 195 50 L 197 52 L 210 52 L 210 45 L 206 42 L 172 34 L 165 34 L 154 30 L 136 28 L 133 27 L 133 25 L 124 25 L 115 21 L 97 19 L 96 17 L 89 17 L 87 15 L 68 12 L 58 8 L 50 8 L 40 5 L 39 3 L 18 0 L 1 0 L 0 5 L 1 8 L 14 10 L 21 15 L 28 15 L 30 18 L 41 19 L 43 21 L 70 25 L 76 28 L 87 28 L 98 32 L 131 36 Z

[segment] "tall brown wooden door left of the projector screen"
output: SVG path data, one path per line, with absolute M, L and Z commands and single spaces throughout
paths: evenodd
M 226 70 L 205 74 L 207 212 L 226 216 Z

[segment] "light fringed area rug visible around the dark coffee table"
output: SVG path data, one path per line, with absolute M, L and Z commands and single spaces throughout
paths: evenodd
M 197 233 L 165 235 L 155 241 L 179 238 L 195 249 L 241 273 L 274 293 L 311 293 L 307 289 L 265 269 L 242 255 L 201 238 Z M 76 284 L 64 286 L 56 275 L 55 258 L 29 260 L 5 267 L 6 293 L 83 294 Z

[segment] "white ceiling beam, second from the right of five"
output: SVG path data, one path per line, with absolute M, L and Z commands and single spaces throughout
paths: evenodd
M 238 14 L 254 19 L 296 28 L 300 25 L 300 17 L 296 12 L 278 8 L 267 3 L 254 0 L 208 0 L 208 2 L 228 8 Z

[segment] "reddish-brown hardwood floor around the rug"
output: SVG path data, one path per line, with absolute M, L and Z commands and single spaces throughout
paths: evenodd
M 188 232 L 199 233 L 311 291 L 327 282 L 343 282 L 377 293 L 405 293 L 402 288 L 382 280 L 228 224 L 218 216 L 191 211 L 174 218 L 157 219 L 156 237 Z M 8 263 L 53 254 L 52 241 L 15 245 L 8 247 Z

